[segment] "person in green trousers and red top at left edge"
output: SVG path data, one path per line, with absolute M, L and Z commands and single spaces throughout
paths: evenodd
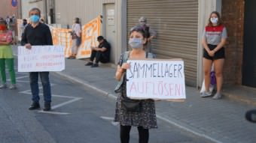
M 8 31 L 7 23 L 4 19 L 0 19 L 0 73 L 2 77 L 2 85 L 0 89 L 7 88 L 5 64 L 7 64 L 9 74 L 11 77 L 10 89 L 16 88 L 16 77 L 14 71 L 14 55 L 11 49 L 11 42 L 13 40 L 12 31 Z

